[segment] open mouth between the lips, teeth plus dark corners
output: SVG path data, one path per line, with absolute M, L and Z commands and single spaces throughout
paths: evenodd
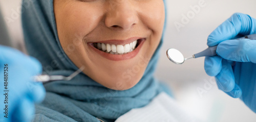
M 115 45 L 115 44 L 108 44 L 108 43 L 93 43 L 93 46 L 105 53 L 110 53 L 110 54 L 117 54 L 117 55 L 121 55 L 121 54 L 127 54 L 130 53 L 132 51 L 134 51 L 138 45 L 141 44 L 141 41 L 143 39 L 138 39 L 135 40 L 129 44 L 125 44 L 125 45 Z

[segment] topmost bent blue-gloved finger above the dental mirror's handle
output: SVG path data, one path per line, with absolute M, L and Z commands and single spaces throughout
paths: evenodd
M 246 14 L 234 13 L 208 36 L 207 45 L 215 46 L 222 41 L 237 38 L 237 35 L 249 34 L 256 34 L 256 20 Z

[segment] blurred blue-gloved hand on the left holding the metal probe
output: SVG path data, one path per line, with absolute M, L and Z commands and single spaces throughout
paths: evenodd
M 5 66 L 8 64 L 8 66 Z M 8 71 L 6 68 L 8 67 Z M 8 73 L 8 85 L 4 84 L 4 70 Z M 33 82 L 32 76 L 42 72 L 41 64 L 33 57 L 6 46 L 0 45 L 0 121 L 31 121 L 34 115 L 34 103 L 45 97 L 42 83 Z M 7 87 L 7 89 L 5 89 Z M 4 92 L 9 90 L 9 92 Z M 7 94 L 8 101 L 6 101 Z M 5 104 L 4 102 L 8 102 Z M 4 117 L 8 105 L 8 118 Z

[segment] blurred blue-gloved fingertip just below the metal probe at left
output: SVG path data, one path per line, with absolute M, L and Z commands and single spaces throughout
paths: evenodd
M 27 87 L 29 89 L 28 96 L 33 100 L 35 103 L 40 103 L 45 99 L 46 90 L 44 85 L 40 82 L 27 82 Z

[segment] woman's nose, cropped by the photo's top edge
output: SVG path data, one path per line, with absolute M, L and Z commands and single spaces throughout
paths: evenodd
M 127 0 L 110 1 L 105 15 L 105 25 L 122 30 L 131 29 L 138 22 L 138 16 L 132 3 Z

